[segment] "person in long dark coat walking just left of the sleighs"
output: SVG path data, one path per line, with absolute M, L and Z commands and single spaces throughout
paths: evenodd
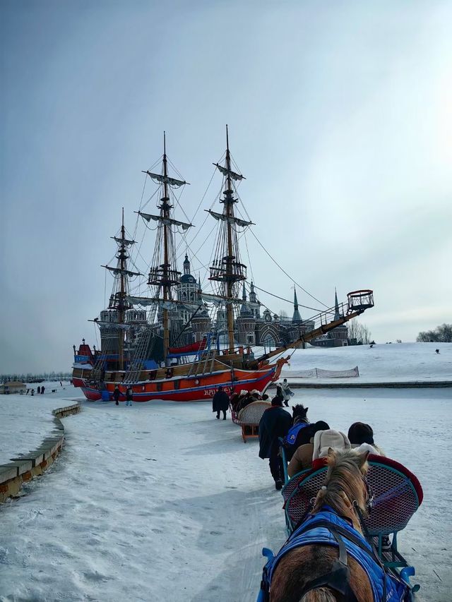
M 276 395 L 271 400 L 271 407 L 262 414 L 259 423 L 259 457 L 268 458 L 270 473 L 275 481 L 275 488 L 283 488 L 283 461 L 279 455 L 278 438 L 287 435 L 292 424 L 292 416 L 283 409 L 283 397 Z

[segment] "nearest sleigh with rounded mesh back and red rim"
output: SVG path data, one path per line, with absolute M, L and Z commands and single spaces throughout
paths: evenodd
M 374 543 L 383 565 L 409 583 L 415 569 L 398 551 L 397 536 L 421 505 L 422 486 L 414 474 L 395 460 L 372 454 L 368 460 L 367 482 L 374 496 L 374 505 L 369 517 L 364 519 L 364 535 Z M 327 467 L 319 464 L 290 478 L 281 492 L 289 534 L 307 517 L 323 486 Z M 390 547 L 383 546 L 383 538 L 387 536 L 392 536 Z M 412 591 L 419 588 L 419 585 L 412 586 Z

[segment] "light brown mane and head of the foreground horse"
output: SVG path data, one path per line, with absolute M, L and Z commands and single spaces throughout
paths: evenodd
M 357 454 L 353 450 L 336 452 L 330 447 L 325 485 L 317 494 L 312 514 L 328 505 L 339 516 L 350 517 L 355 528 L 359 528 L 353 506 L 357 505 L 362 514 L 367 515 L 363 476 L 368 468 L 368 455 L 369 452 Z

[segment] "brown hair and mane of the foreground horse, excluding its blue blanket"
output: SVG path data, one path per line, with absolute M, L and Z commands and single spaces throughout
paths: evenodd
M 367 456 L 368 452 L 335 452 L 330 448 L 326 486 L 319 491 L 312 514 L 320 512 L 323 505 L 328 505 L 338 516 L 350 519 L 353 527 L 362 533 L 357 508 L 367 516 Z M 275 567 L 270 602 L 342 602 L 344 596 L 327 586 L 311 589 L 302 595 L 307 583 L 333 570 L 335 560 L 338 560 L 338 548 L 333 546 L 315 544 L 290 550 Z M 349 585 L 357 600 L 373 600 L 366 572 L 350 555 L 347 564 L 350 567 Z

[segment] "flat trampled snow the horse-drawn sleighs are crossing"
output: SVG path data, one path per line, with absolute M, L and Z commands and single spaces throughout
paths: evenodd
M 403 369 L 414 380 L 410 355 Z M 347 361 L 359 365 L 356 355 Z M 388 372 L 395 361 L 386 356 Z M 70 388 L 53 395 L 1 396 L 0 407 L 7 399 L 11 413 L 27 404 L 41 416 L 43 403 L 80 398 Z M 297 390 L 295 402 L 309 406 L 312 421 L 344 431 L 370 423 L 386 454 L 417 474 L 424 503 L 399 548 L 417 569 L 416 599 L 450 600 L 452 390 Z M 256 441 L 244 444 L 208 402 L 84 402 L 64 426 L 57 462 L 0 509 L 2 602 L 256 600 L 261 548 L 285 540 L 282 498 Z M 16 443 L 16 452 L 30 449 L 26 433 Z

